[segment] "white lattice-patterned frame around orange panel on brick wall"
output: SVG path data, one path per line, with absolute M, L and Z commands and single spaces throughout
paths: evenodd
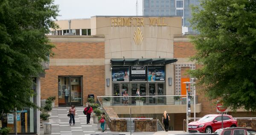
M 195 64 L 175 64 L 175 95 L 181 95 L 181 67 L 195 70 Z M 193 86 L 193 80 L 190 77 L 190 95 L 194 95 L 194 91 L 195 86 Z

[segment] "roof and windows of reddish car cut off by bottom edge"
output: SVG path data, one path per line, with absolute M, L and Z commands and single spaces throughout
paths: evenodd
M 256 135 L 256 130 L 244 127 L 227 127 L 225 129 L 217 129 L 214 134 L 218 135 Z

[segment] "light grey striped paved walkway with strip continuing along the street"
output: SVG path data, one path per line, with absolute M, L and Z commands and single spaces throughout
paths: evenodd
M 69 125 L 69 117 L 67 113 L 70 107 L 55 107 L 52 109 L 49 122 L 52 124 L 52 135 L 90 135 L 102 133 L 98 130 L 97 124 L 93 124 L 93 119 L 90 119 L 90 124 L 86 124 L 86 115 L 83 114 L 84 108 L 76 107 L 75 125 Z M 105 133 L 110 133 L 109 129 Z M 130 135 L 130 132 L 111 132 L 117 134 Z M 132 135 L 170 135 L 181 134 L 183 131 L 160 131 L 160 132 L 132 132 Z M 40 130 L 40 135 L 44 135 L 44 129 Z

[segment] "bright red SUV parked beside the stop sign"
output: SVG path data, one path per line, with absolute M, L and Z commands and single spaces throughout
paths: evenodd
M 231 115 L 223 115 L 223 128 L 236 127 L 237 121 Z M 221 115 L 205 115 L 198 121 L 189 123 L 189 132 L 212 133 L 221 128 Z

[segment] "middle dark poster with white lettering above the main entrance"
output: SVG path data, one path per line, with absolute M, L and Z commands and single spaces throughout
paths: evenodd
M 146 78 L 146 66 L 131 66 L 131 81 L 142 81 Z

